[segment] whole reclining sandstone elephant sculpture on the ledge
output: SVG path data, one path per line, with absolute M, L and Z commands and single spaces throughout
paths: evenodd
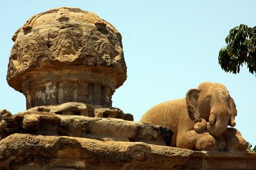
M 236 104 L 220 83 L 204 82 L 186 98 L 167 101 L 148 110 L 140 122 L 164 125 L 173 131 L 172 146 L 193 150 L 246 150 L 234 128 Z M 228 127 L 228 125 L 230 127 Z

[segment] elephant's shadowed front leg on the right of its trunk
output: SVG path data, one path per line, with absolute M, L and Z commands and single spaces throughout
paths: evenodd
M 227 148 L 231 150 L 246 150 L 247 145 L 241 133 L 235 128 L 227 128 L 225 132 Z

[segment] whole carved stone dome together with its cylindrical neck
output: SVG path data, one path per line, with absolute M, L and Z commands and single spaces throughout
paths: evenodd
M 126 80 L 122 37 L 111 24 L 78 8 L 31 17 L 13 36 L 7 81 L 27 109 L 67 102 L 111 106 Z

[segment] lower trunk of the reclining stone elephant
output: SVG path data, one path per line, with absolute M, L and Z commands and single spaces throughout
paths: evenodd
M 209 122 L 207 122 L 206 128 L 209 134 L 215 137 L 220 137 L 225 134 L 228 126 L 228 117 L 223 115 L 215 115 L 211 113 Z

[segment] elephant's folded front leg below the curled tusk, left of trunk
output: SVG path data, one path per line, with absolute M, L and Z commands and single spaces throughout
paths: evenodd
M 197 133 L 192 130 L 185 134 L 177 134 L 177 147 L 196 150 L 214 150 L 217 148 L 217 141 L 206 131 Z

